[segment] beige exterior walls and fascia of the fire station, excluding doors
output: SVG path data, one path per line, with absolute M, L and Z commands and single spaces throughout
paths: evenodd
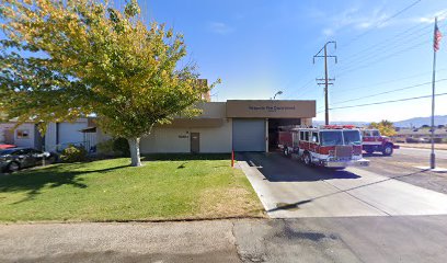
M 232 117 L 242 118 L 300 118 L 302 124 L 311 125 L 316 114 L 314 101 L 229 101 L 199 104 L 203 113 L 191 119 L 179 116 L 170 125 L 157 125 L 152 133 L 141 138 L 141 153 L 183 153 L 191 152 L 191 133 L 199 133 L 200 152 L 231 152 L 233 139 Z M 231 104 L 232 103 L 232 104 Z M 271 107 L 273 105 L 273 111 Z M 236 106 L 237 108 L 228 108 Z M 262 107 L 265 108 L 262 108 Z M 275 107 L 276 106 L 276 107 Z M 261 108 L 260 108 L 261 107 Z M 267 125 L 265 130 L 267 134 Z M 111 139 L 110 135 L 96 129 L 96 140 Z M 267 147 L 268 141 L 265 140 Z

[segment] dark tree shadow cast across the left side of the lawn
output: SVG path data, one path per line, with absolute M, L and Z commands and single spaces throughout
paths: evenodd
M 14 204 L 31 201 L 36 195 L 41 194 L 43 187 L 50 188 L 62 185 L 71 185 L 78 188 L 87 188 L 88 185 L 83 183 L 83 176 L 89 173 L 103 173 L 128 165 L 117 165 L 106 169 L 88 169 L 90 163 L 77 164 L 55 164 L 48 168 L 32 169 L 16 173 L 0 174 L 0 192 L 13 193 L 26 191 L 26 197 Z M 85 168 L 85 170 L 76 171 Z

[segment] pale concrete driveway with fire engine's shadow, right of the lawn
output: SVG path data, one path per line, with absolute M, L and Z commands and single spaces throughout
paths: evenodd
M 447 215 L 447 195 L 371 171 L 308 168 L 279 153 L 237 159 L 272 218 Z

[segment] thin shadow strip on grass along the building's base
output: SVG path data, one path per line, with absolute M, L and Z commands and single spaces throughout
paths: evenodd
M 141 156 L 141 161 L 194 161 L 230 159 L 230 153 L 153 153 Z

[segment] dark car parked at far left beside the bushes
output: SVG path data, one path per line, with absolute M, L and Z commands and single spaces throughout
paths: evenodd
M 47 163 L 53 163 L 57 160 L 57 156 L 33 148 L 10 148 L 0 150 L 0 171 L 15 172 L 23 168 L 36 167 L 42 164 L 43 159 L 45 159 Z

